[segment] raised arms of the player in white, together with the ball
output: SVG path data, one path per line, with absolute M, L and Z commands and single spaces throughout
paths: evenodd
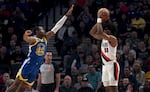
M 111 32 L 111 30 L 103 30 L 102 27 L 102 22 L 105 22 L 108 19 L 109 19 L 109 11 L 106 8 L 99 9 L 97 13 L 97 23 L 90 30 L 90 35 L 97 40 L 101 40 L 101 39 L 108 40 L 110 44 L 114 47 L 117 45 L 116 37 L 106 34 L 108 31 Z

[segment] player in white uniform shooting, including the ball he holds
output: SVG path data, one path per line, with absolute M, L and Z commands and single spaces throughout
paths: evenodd
M 113 36 L 112 25 L 109 21 L 109 10 L 101 8 L 97 13 L 97 23 L 90 30 L 90 35 L 97 40 L 102 40 L 101 43 L 101 58 L 102 58 L 102 82 L 106 92 L 118 92 L 118 79 L 119 79 L 119 64 L 116 61 L 116 51 L 118 41 Z M 106 29 L 102 26 L 107 23 Z

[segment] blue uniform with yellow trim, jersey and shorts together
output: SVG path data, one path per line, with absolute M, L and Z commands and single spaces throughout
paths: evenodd
M 47 49 L 47 40 L 45 37 L 42 39 L 34 38 L 36 39 L 36 43 L 29 45 L 28 58 L 25 59 L 16 76 L 28 85 L 33 85 L 36 80 Z

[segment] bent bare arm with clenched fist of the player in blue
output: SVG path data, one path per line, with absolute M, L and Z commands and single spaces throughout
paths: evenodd
M 30 35 L 32 34 L 31 30 L 26 30 L 24 35 L 23 35 L 23 39 L 28 42 L 29 44 L 34 44 L 36 42 L 36 39 L 33 37 L 30 37 Z

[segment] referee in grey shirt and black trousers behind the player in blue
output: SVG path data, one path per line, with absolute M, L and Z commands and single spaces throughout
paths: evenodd
M 59 92 L 60 71 L 52 62 L 52 52 L 47 52 L 45 62 L 40 67 L 37 81 L 37 92 Z

